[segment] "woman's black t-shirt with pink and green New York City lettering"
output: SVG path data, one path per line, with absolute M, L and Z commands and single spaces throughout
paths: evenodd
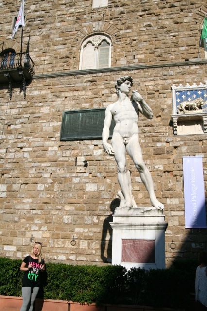
M 26 268 L 28 268 L 29 263 L 32 265 L 31 271 L 25 271 L 22 287 L 40 287 L 41 285 L 41 270 L 40 265 L 44 264 L 44 259 L 40 263 L 38 259 L 34 259 L 31 256 L 26 256 L 23 260 L 26 263 Z

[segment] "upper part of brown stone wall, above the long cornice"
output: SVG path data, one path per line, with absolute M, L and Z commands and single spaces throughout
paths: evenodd
M 1 1 L 0 37 L 4 48 L 20 51 L 21 31 L 9 40 L 16 2 Z M 81 42 L 100 31 L 112 40 L 112 66 L 184 61 L 197 57 L 206 10 L 204 0 L 109 0 L 97 9 L 92 0 L 27 0 L 24 46 L 29 42 L 36 74 L 79 69 Z

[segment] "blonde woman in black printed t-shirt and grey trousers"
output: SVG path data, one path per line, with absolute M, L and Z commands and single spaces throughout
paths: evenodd
M 33 311 L 33 304 L 41 285 L 41 271 L 45 270 L 40 242 L 35 242 L 31 254 L 23 259 L 20 270 L 24 271 L 22 280 L 23 304 L 20 311 Z

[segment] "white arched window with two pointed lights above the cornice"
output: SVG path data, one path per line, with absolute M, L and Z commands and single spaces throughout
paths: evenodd
M 92 35 L 81 46 L 79 69 L 111 66 L 111 41 L 105 35 Z

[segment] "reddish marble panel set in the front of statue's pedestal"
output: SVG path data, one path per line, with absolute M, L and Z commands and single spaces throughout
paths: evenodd
M 121 261 L 155 263 L 155 240 L 122 239 Z

